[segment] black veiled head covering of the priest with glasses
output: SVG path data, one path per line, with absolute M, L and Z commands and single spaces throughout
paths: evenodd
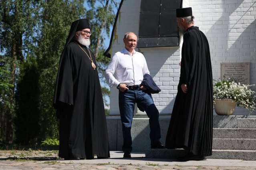
M 69 30 L 69 36 L 66 40 L 65 47 L 73 40 L 75 34 L 79 30 L 83 30 L 85 28 L 89 28 L 89 22 L 87 19 L 80 19 L 72 22 L 70 30 Z

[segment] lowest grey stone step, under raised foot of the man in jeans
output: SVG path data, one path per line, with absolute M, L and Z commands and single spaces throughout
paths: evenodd
M 169 158 L 175 159 L 187 153 L 183 149 L 147 149 L 146 158 Z M 256 160 L 256 150 L 212 150 L 212 156 L 207 159 L 242 159 Z

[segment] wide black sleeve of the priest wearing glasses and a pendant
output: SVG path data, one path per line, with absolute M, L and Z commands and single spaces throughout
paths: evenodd
M 55 85 L 53 106 L 57 109 L 63 104 L 73 105 L 73 52 L 65 47 L 60 57 Z

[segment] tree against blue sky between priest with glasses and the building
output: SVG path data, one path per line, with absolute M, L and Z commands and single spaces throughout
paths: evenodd
M 109 37 L 111 26 L 115 22 L 115 11 L 118 8 L 119 2 L 117 0 L 88 0 L 89 10 L 86 12 L 86 16 L 89 19 L 91 31 L 91 45 L 90 48 L 94 51 L 99 77 L 101 82 L 106 84 L 104 78 L 105 69 L 109 63 L 109 58 L 103 56 L 105 47 L 102 45 L 105 37 Z M 110 91 L 106 87 L 102 87 L 102 93 L 107 105 L 106 97 L 109 96 Z

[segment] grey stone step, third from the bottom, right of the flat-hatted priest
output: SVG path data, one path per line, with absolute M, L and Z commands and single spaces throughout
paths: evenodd
M 255 139 L 256 128 L 214 128 L 213 138 Z

